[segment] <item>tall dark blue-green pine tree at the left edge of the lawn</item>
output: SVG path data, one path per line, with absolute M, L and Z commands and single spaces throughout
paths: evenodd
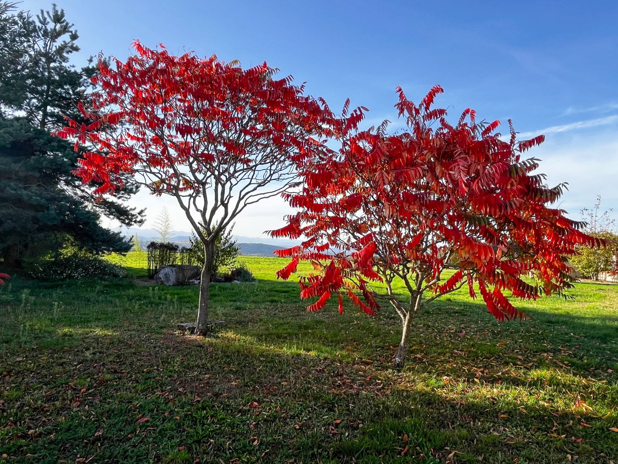
M 77 38 L 55 5 L 34 19 L 0 3 L 0 257 L 6 266 L 67 243 L 89 252 L 128 251 L 131 244 L 99 218 L 143 222 L 143 212 L 123 203 L 136 191 L 130 183 L 116 200 L 95 203 L 71 173 L 78 153 L 51 134 L 62 114 L 77 117 L 77 102 L 96 72 L 67 64 Z

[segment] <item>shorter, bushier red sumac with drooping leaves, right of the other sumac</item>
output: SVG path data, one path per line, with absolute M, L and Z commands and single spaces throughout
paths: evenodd
M 346 105 L 343 118 L 331 121 L 341 150 L 306 165 L 302 191 L 287 195 L 300 211 L 272 234 L 305 237 L 280 252 L 292 261 L 277 276 L 287 279 L 299 260 L 311 261 L 317 272 L 300 278 L 302 298 L 317 298 L 309 311 L 332 296 L 340 312 L 344 296 L 366 314 L 380 300 L 394 307 L 402 337 L 393 363 L 402 366 L 413 317 L 434 299 L 465 286 L 497 319 L 522 319 L 507 294 L 561 294 L 572 286 L 567 259 L 575 246 L 600 243 L 549 207 L 564 184 L 549 188 L 533 174 L 537 160 L 522 160 L 543 135 L 518 142 L 509 121 L 504 141 L 499 121 L 476 122 L 473 110 L 449 124 L 446 110 L 432 108 L 439 86 L 419 105 L 397 91 L 407 130 L 387 135 L 383 124 L 359 132 L 363 112 L 348 115 Z

